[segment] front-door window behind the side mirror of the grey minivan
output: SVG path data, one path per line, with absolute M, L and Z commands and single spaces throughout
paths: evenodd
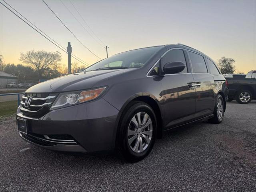
M 169 62 L 175 62 L 175 61 L 180 61 L 183 62 L 186 65 L 186 60 L 184 56 L 184 52 L 181 49 L 174 49 L 170 50 L 167 52 L 163 57 L 162 57 L 162 68 L 164 67 L 164 64 L 169 63 Z M 187 73 L 187 66 L 184 68 L 182 72 L 179 73 Z

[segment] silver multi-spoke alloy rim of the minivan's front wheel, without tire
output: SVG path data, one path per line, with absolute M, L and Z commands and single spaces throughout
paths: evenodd
M 128 144 L 132 151 L 141 153 L 150 144 L 153 134 L 153 124 L 146 112 L 138 112 L 128 126 Z

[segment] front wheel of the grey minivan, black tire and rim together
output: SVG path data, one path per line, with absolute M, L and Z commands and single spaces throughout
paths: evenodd
M 120 120 L 116 143 L 118 153 L 128 162 L 144 159 L 152 150 L 156 139 L 154 111 L 148 104 L 134 101 L 126 107 Z

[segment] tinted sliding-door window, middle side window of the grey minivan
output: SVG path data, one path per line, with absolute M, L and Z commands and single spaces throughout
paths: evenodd
M 190 56 L 192 68 L 194 73 L 207 73 L 206 64 L 204 62 L 204 57 L 188 51 L 188 54 Z

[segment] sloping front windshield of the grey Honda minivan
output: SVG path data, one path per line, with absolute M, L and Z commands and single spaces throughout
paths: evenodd
M 162 46 L 126 51 L 101 60 L 84 71 L 140 68 Z

